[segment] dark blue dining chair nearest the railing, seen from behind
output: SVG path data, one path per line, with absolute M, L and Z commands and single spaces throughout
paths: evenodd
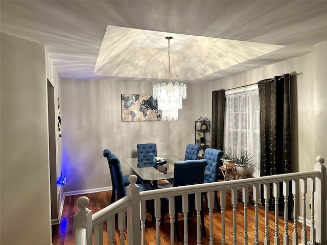
M 204 169 L 207 165 L 206 160 L 186 160 L 175 163 L 174 168 L 174 182 L 175 186 L 195 185 L 204 182 Z M 203 199 L 201 199 L 203 202 Z M 203 206 L 203 205 L 202 205 Z M 189 212 L 195 210 L 195 194 L 189 194 Z M 178 213 L 182 212 L 182 197 L 181 195 L 175 197 L 175 228 L 176 237 L 180 241 L 178 229 Z M 203 213 L 201 215 L 202 231 L 205 235 Z

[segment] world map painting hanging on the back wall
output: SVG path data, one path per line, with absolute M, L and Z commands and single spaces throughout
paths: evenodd
M 122 121 L 160 121 L 158 103 L 151 94 L 122 94 Z

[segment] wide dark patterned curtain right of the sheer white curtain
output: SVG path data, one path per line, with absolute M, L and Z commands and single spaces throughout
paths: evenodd
M 261 176 L 291 172 L 290 78 L 289 74 L 285 74 L 284 77 L 258 82 Z M 283 189 L 280 190 L 282 198 L 279 199 L 278 209 L 282 211 L 284 209 Z M 273 209 L 272 193 L 270 197 L 269 207 Z

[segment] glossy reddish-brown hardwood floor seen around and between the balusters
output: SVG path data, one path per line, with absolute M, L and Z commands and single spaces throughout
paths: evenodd
M 93 213 L 99 211 L 100 209 L 108 206 L 110 204 L 110 197 L 111 191 L 103 191 L 103 192 L 96 192 L 85 194 L 89 200 L 88 208 L 92 210 Z M 73 195 L 65 198 L 64 207 L 62 211 L 62 218 L 60 225 L 56 225 L 53 227 L 53 245 L 73 245 L 75 244 L 74 239 L 74 226 L 73 220 L 78 207 L 76 205 L 76 200 L 81 197 L 82 195 Z M 225 240 L 227 245 L 232 245 L 232 211 L 230 206 L 230 194 L 227 194 L 226 197 L 226 209 L 225 209 Z M 241 244 L 244 243 L 244 234 L 243 234 L 243 203 L 237 205 L 237 243 Z M 205 227 L 206 227 L 206 236 L 201 237 L 201 244 L 209 244 L 209 216 L 208 210 L 206 205 L 204 204 L 204 213 L 205 213 Z M 248 244 L 253 244 L 254 240 L 254 207 L 252 205 L 248 205 Z M 217 212 L 216 206 L 214 209 L 214 243 L 221 244 L 221 213 Z M 284 219 L 283 216 L 279 216 L 278 222 L 278 229 L 279 229 L 279 239 L 281 244 L 283 244 L 283 234 L 284 234 Z M 181 241 L 178 242 L 176 240 L 175 235 L 175 244 L 183 244 L 183 234 L 182 234 L 182 227 L 183 227 L 183 220 L 182 216 L 178 218 L 179 230 Z M 293 221 L 289 220 L 288 223 L 288 234 L 290 239 L 290 244 L 292 244 L 292 232 L 293 232 Z M 116 227 L 117 228 L 117 227 Z M 297 243 L 300 243 L 300 236 L 301 236 L 301 223 L 297 225 L 297 231 L 299 240 Z M 309 228 L 307 227 L 307 231 L 309 234 Z M 156 237 L 156 229 L 155 224 L 151 222 L 151 215 L 147 213 L 147 221 L 146 221 L 146 244 L 155 244 L 155 237 Z M 169 215 L 165 215 L 165 222 L 164 224 L 160 225 L 160 244 L 170 244 L 170 223 L 169 223 Z M 275 234 L 275 227 L 274 227 L 274 212 L 269 211 L 269 239 L 270 242 L 273 243 L 273 236 Z M 125 237 L 126 237 L 126 230 L 125 230 Z M 259 242 L 260 244 L 264 244 L 265 238 L 265 212 L 263 206 L 259 205 Z M 119 242 L 119 231 L 116 229 L 115 235 L 115 244 L 120 244 Z M 125 241 L 127 244 L 127 241 Z M 104 244 L 109 244 L 106 234 L 106 228 L 104 229 Z M 189 244 L 193 245 L 196 244 L 196 217 L 192 216 L 189 219 Z

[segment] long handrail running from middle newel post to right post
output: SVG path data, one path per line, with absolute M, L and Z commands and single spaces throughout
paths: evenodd
M 228 181 L 221 181 L 221 182 L 214 182 L 214 183 L 197 184 L 192 186 L 192 188 L 190 188 L 190 186 L 178 186 L 173 188 L 148 190 L 148 191 L 140 192 L 139 197 L 141 201 L 146 201 L 155 198 L 176 196 L 181 194 L 191 194 L 195 192 L 215 191 L 217 189 L 230 189 L 230 188 L 237 188 L 243 186 L 269 184 L 273 182 L 290 181 L 295 179 L 305 179 L 305 178 L 313 178 L 319 176 L 320 176 L 319 170 L 311 170 L 311 171 L 305 171 L 300 173 L 289 173 L 283 175 L 262 176 L 262 177 L 239 179 L 239 180 L 228 180 Z

